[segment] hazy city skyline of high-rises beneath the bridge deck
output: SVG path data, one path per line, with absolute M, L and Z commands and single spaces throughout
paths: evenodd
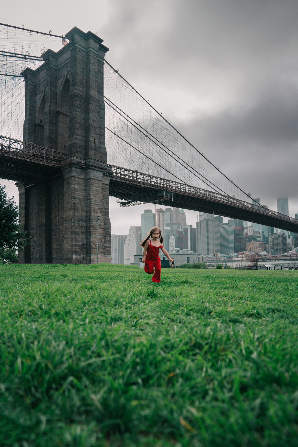
M 252 198 L 260 205 L 260 198 Z M 154 226 L 161 229 L 164 248 L 180 258 L 180 263 L 190 262 L 190 255 L 238 256 L 248 253 L 277 255 L 297 253 L 298 235 L 259 223 L 228 219 L 199 211 L 196 228 L 187 225 L 185 211 L 181 208 L 144 209 L 141 225 L 132 225 L 127 235 L 112 234 L 112 263 L 135 264 L 142 256 L 140 242 Z M 288 198 L 277 199 L 278 212 L 289 215 Z M 295 215 L 298 219 L 298 213 Z M 201 259 L 201 258 L 200 258 Z

